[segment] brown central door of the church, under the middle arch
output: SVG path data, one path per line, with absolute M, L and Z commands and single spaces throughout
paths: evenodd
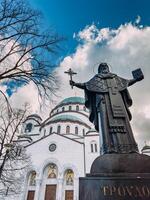
M 46 185 L 45 200 L 56 200 L 56 185 Z

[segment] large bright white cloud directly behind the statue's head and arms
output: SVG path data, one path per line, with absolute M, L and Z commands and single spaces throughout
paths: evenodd
M 137 22 L 140 22 L 140 18 L 137 18 Z M 141 67 L 145 79 L 130 88 L 134 102 L 131 108 L 132 125 L 141 147 L 145 139 L 150 140 L 147 134 L 149 133 L 150 117 L 150 27 L 138 27 L 127 23 L 117 29 L 98 29 L 92 24 L 86 26 L 75 36 L 79 40 L 76 51 L 65 57 L 60 67 L 57 68 L 62 82 L 60 98 L 83 95 L 79 89 L 74 91 L 70 89 L 69 77 L 64 74 L 64 71 L 69 68 L 78 73 L 73 80 L 85 82 L 97 72 L 100 62 L 107 62 L 112 72 L 129 79 L 132 78 L 131 71 Z M 141 112 L 141 110 L 145 112 Z M 141 123 L 139 123 L 140 119 Z

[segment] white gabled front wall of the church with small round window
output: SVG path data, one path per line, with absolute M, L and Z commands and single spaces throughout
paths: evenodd
M 51 143 L 57 145 L 55 152 L 49 151 L 49 145 Z M 78 200 L 78 180 L 79 177 L 85 176 L 84 145 L 82 143 L 75 142 L 60 135 L 52 134 L 27 147 L 27 152 L 31 155 L 32 167 L 38 174 L 37 180 L 40 185 L 36 186 L 37 197 L 35 200 L 44 200 L 46 184 L 46 180 L 44 179 L 44 169 L 50 163 L 54 163 L 58 167 L 58 178 L 57 180 L 53 180 L 57 183 L 56 199 L 65 199 L 63 188 L 64 173 L 66 169 L 72 169 L 75 175 L 73 187 L 74 200 Z M 53 181 L 50 182 L 50 184 L 53 184 Z M 22 198 L 26 199 L 26 195 L 27 190 L 24 191 Z

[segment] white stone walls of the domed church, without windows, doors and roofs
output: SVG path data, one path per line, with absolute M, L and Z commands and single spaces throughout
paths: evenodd
M 79 106 L 79 111 L 76 111 L 77 105 Z M 71 111 L 69 111 L 69 106 L 72 107 Z M 63 107 L 64 112 L 62 112 Z M 71 187 L 64 185 L 64 173 L 66 169 L 72 169 L 74 172 L 74 185 L 72 188 L 74 190 L 74 200 L 79 199 L 79 177 L 84 177 L 86 173 L 90 172 L 92 162 L 99 155 L 99 135 L 96 132 L 89 132 L 89 127 L 84 124 L 71 122 L 69 120 L 49 124 L 53 118 L 61 115 L 77 117 L 80 121 L 93 128 L 93 124 L 89 122 L 87 117 L 88 111 L 84 111 L 84 105 L 81 104 L 60 106 L 56 108 L 51 114 L 51 117 L 43 123 L 45 126 L 41 128 L 39 126 L 34 127 L 34 129 L 28 133 L 31 135 L 34 143 L 26 148 L 27 153 L 31 156 L 32 166 L 25 175 L 26 179 L 23 183 L 24 192 L 19 199 L 16 198 L 15 200 L 26 200 L 29 189 L 35 189 L 34 200 L 44 200 L 45 186 L 47 183 L 57 184 L 56 200 L 65 200 L 65 189 Z M 28 122 L 37 124 L 37 122 L 32 119 L 28 119 L 25 123 Z M 59 125 L 61 126 L 60 135 L 56 134 Z M 70 134 L 66 134 L 67 126 L 70 126 Z M 52 133 L 50 134 L 51 127 Z M 78 127 L 78 135 L 75 135 L 75 127 Z M 84 135 L 83 129 L 85 130 Z M 97 144 L 97 152 L 91 152 L 91 142 Z M 57 146 L 54 152 L 49 151 L 49 145 L 52 143 Z M 56 164 L 58 168 L 58 177 L 55 180 L 48 180 L 45 176 L 44 171 L 50 163 Z M 28 186 L 28 175 L 31 170 L 35 170 L 37 173 L 35 188 L 30 188 Z

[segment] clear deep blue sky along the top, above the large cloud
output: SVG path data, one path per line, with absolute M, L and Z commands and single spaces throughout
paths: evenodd
M 66 54 L 77 44 L 73 34 L 86 25 L 116 28 L 135 21 L 137 16 L 141 17 L 142 25 L 150 24 L 149 0 L 30 0 L 30 3 L 42 11 L 47 26 L 67 38 L 63 44 Z

